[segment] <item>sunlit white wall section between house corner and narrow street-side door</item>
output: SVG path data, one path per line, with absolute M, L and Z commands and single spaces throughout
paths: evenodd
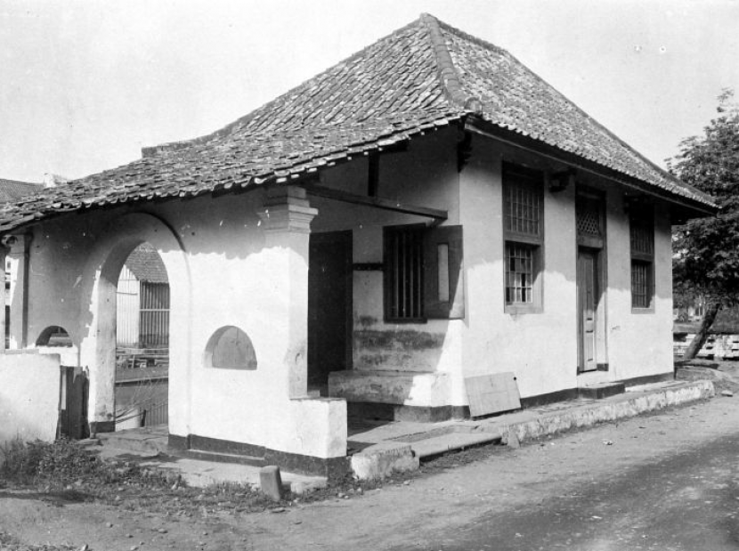
M 535 159 L 478 136 L 473 147 L 460 184 L 467 270 L 464 374 L 513 371 L 522 397 L 572 388 L 577 367 L 574 190 L 544 193 L 542 312 L 506 313 L 503 155 L 529 165 Z M 455 399 L 466 404 L 464 388 L 459 390 Z

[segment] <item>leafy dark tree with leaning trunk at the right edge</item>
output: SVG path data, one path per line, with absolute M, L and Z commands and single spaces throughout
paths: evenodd
M 719 215 L 678 227 L 673 240 L 676 303 L 706 298 L 703 340 L 719 308 L 739 304 L 739 106 L 732 90 L 719 95 L 717 111 L 702 136 L 680 142 L 669 163 L 672 174 L 713 196 L 720 207 Z

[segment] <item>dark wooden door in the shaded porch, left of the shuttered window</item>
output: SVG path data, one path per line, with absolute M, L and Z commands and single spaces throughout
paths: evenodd
M 311 234 L 308 271 L 308 385 L 351 367 L 352 232 Z

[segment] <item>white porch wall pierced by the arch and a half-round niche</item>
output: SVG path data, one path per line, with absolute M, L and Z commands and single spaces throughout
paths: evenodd
M 29 342 L 49 325 L 69 331 L 82 365 L 93 367 L 94 420 L 110 420 L 113 407 L 115 322 L 94 312 L 98 301 L 115 301 L 115 293 L 100 294 L 101 272 L 117 277 L 116 266 L 147 240 L 158 248 L 170 281 L 170 433 L 320 458 L 345 455 L 336 429 L 345 425 L 345 403 L 291 400 L 290 369 L 299 371 L 305 364 L 305 312 L 301 317 L 291 309 L 303 303 L 306 308 L 307 235 L 300 236 L 305 250 L 294 247 L 292 238 L 265 247 L 256 215 L 263 197 L 264 190 L 255 190 L 149 204 L 147 215 L 123 207 L 37 228 L 31 245 Z M 142 223 L 147 216 L 160 222 Z M 122 242 L 125 247 L 118 251 Z M 204 365 L 208 338 L 226 325 L 248 334 L 256 370 Z M 107 351 L 99 350 L 101 339 L 110 343 Z M 296 429 L 306 424 L 312 426 L 310 434 Z

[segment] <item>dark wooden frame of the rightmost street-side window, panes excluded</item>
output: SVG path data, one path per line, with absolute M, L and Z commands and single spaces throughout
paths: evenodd
M 646 232 L 646 245 L 648 250 L 641 247 L 635 247 L 637 242 L 636 231 L 644 230 Z M 655 280 L 654 280 L 654 205 L 650 203 L 632 204 L 629 207 L 629 273 L 631 295 L 631 312 L 632 313 L 654 313 L 655 300 Z M 646 266 L 646 296 L 649 304 L 636 304 L 635 299 L 635 266 Z M 641 295 L 638 295 L 641 296 Z

